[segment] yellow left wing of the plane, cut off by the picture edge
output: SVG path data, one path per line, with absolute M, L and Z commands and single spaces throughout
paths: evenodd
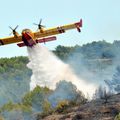
M 17 42 L 21 42 L 22 41 L 22 36 L 19 35 L 18 37 L 7 37 L 7 38 L 3 38 L 0 39 L 0 46 L 1 45 L 6 45 L 6 44 L 12 44 L 12 43 L 17 43 Z

